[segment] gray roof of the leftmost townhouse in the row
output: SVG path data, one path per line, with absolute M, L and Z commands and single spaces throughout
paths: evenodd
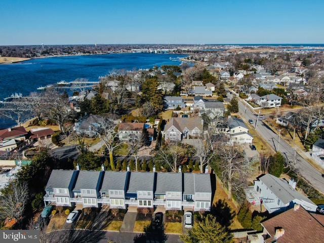
M 73 173 L 77 171 L 53 170 L 45 190 L 53 190 L 53 188 L 69 188 L 73 177 Z

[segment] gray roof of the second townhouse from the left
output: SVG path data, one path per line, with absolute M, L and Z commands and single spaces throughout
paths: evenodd
M 96 189 L 101 171 L 79 171 L 73 191 L 81 189 Z

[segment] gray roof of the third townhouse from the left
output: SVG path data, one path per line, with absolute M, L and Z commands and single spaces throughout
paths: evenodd
M 100 191 L 124 190 L 127 174 L 127 172 L 105 171 Z

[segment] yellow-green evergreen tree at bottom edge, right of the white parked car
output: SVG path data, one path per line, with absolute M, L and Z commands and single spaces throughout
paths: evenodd
M 180 235 L 185 243 L 233 243 L 233 235 L 216 221 L 216 217 L 209 214 L 203 220 L 193 224 L 189 234 Z

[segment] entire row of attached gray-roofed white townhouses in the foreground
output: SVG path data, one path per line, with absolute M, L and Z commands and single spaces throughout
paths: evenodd
M 45 190 L 45 205 L 84 208 L 209 211 L 212 200 L 210 175 L 193 173 L 53 170 Z

